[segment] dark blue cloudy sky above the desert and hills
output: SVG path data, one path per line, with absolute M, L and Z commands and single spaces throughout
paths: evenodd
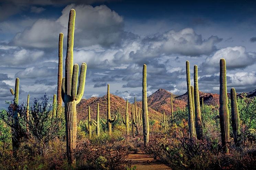
M 159 88 L 187 91 L 186 60 L 198 65 L 199 90 L 219 93 L 219 61 L 226 59 L 227 88 L 256 89 L 256 1 L 1 0 L 0 108 L 57 93 L 58 36 L 66 58 L 70 9 L 76 10 L 74 63 L 87 63 L 84 98 L 112 94 L 142 99 Z M 65 62 L 64 62 L 65 63 Z M 65 68 L 65 65 L 64 65 Z

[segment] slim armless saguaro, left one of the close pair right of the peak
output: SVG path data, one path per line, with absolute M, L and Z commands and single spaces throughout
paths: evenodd
M 196 130 L 194 127 L 194 118 L 193 118 L 193 104 L 191 96 L 191 87 L 190 87 L 190 72 L 189 72 L 189 61 L 186 61 L 186 72 L 187 72 L 187 90 L 188 90 L 188 127 L 191 137 L 196 137 Z

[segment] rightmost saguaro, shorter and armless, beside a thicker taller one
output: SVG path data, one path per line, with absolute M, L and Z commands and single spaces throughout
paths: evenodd
M 235 146 L 239 146 L 240 138 L 241 138 L 240 117 L 239 117 L 238 106 L 236 101 L 235 88 L 231 88 L 230 95 L 231 95 L 231 122 L 232 122 L 233 134 L 234 134 L 234 143 L 235 143 Z

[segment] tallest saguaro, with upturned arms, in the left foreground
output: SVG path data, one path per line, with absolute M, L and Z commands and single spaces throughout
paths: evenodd
M 62 79 L 62 100 L 65 103 L 66 141 L 68 163 L 76 165 L 76 105 L 82 99 L 85 90 L 86 63 L 82 63 L 78 83 L 78 64 L 73 65 L 73 47 L 76 11 L 70 10 L 68 20 L 67 55 L 65 62 L 65 77 Z M 78 89 L 77 89 L 78 84 Z

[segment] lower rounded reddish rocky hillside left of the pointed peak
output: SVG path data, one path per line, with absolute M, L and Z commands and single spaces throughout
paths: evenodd
M 87 99 L 87 100 L 82 99 L 77 105 L 78 120 L 87 119 L 88 106 L 91 107 L 91 118 L 96 119 L 97 103 L 100 104 L 100 116 L 106 119 L 107 118 L 107 95 L 104 95 L 102 97 L 91 97 L 90 99 Z M 119 109 L 120 109 L 121 115 L 124 116 L 125 107 L 126 107 L 126 101 L 122 97 L 110 94 L 111 115 L 113 115 L 113 113 L 119 112 Z M 138 104 L 138 107 L 141 107 L 141 104 Z M 128 113 L 130 114 L 130 118 L 131 118 L 131 112 L 132 112 L 131 103 L 128 104 L 128 108 L 129 108 Z M 160 116 L 160 113 L 152 109 L 151 107 L 148 107 L 148 113 L 149 113 L 149 118 L 158 118 Z

